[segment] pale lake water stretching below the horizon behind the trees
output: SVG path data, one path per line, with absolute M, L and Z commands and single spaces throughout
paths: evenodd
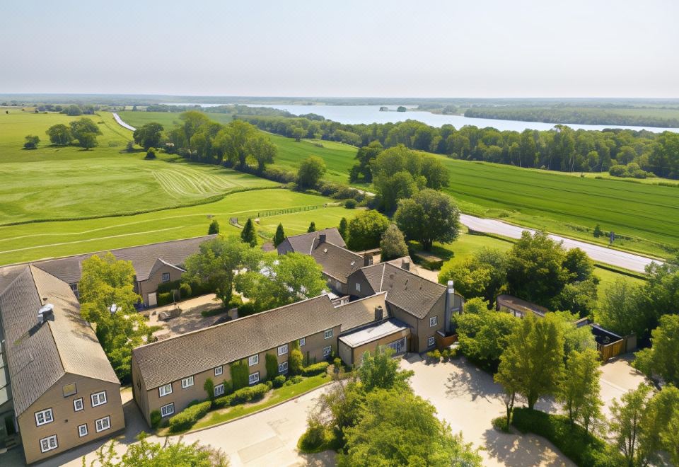
M 215 107 L 216 105 L 226 104 L 186 104 L 168 103 L 167 105 L 200 105 L 201 107 Z M 328 120 L 340 123 L 359 124 L 359 123 L 388 123 L 402 122 L 403 120 L 418 120 L 432 127 L 441 127 L 450 124 L 455 128 L 465 125 L 475 125 L 479 128 L 494 127 L 501 131 L 513 130 L 523 132 L 524 129 L 551 129 L 555 123 L 543 122 L 521 122 L 518 120 L 494 120 L 490 118 L 470 118 L 464 115 L 440 115 L 422 110 L 413 110 L 414 106 L 404 105 L 408 108 L 407 112 L 395 112 L 395 105 L 387 105 L 390 110 L 381 112 L 381 105 L 287 105 L 287 104 L 245 104 L 249 107 L 270 107 L 279 110 L 287 110 L 294 115 L 315 113 Z M 679 128 L 656 128 L 656 127 L 628 127 L 624 125 L 576 125 L 574 123 L 564 123 L 573 129 L 605 129 L 605 128 L 627 128 L 642 130 L 647 129 L 651 132 L 679 132 Z

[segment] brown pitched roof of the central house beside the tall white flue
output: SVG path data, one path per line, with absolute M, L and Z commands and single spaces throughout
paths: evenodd
M 446 292 L 446 287 L 391 263 L 361 267 L 374 292 L 388 292 L 387 302 L 422 319 Z

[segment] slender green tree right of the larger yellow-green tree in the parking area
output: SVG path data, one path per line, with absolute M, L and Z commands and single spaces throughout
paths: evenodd
M 602 417 L 599 363 L 596 350 L 571 352 L 566 362 L 564 379 L 557 392 L 557 400 L 563 404 L 571 425 L 580 423 L 586 431 Z

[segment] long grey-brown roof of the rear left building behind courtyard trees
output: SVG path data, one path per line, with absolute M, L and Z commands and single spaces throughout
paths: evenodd
M 103 255 L 110 251 L 118 260 L 132 261 L 137 280 L 149 279 L 156 265 L 156 260 L 161 259 L 163 263 L 177 266 L 184 263 L 184 260 L 193 253 L 197 253 L 198 246 L 204 241 L 211 240 L 215 235 L 207 235 L 195 238 L 183 238 L 182 240 L 166 241 L 161 243 L 151 243 L 149 245 L 132 246 L 129 248 L 118 248 L 117 250 L 98 251 L 96 253 L 86 253 L 83 255 L 58 258 L 56 260 L 43 260 L 33 263 L 40 269 L 49 272 L 51 275 L 62 279 L 64 282 L 73 284 L 80 281 L 81 263 L 83 260 L 93 255 Z M 5 269 L 5 268 L 3 268 Z

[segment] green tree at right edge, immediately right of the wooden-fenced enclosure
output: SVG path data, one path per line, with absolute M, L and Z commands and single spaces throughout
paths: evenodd
M 665 315 L 651 331 L 651 348 L 637 352 L 634 367 L 652 378 L 679 386 L 679 315 Z

